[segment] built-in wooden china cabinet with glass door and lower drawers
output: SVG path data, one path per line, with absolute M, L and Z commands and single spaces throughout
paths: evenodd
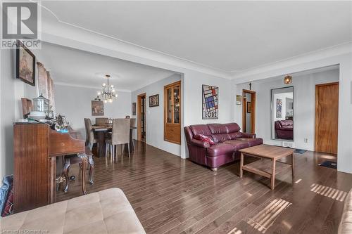
M 164 86 L 164 140 L 181 144 L 181 82 Z

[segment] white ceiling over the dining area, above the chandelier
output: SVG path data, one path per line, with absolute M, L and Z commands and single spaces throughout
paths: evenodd
M 134 91 L 175 74 L 156 67 L 44 42 L 42 49 L 37 51 L 37 58 L 50 71 L 56 84 L 97 89 L 106 83 L 105 74 L 111 74 L 109 83 L 122 91 Z

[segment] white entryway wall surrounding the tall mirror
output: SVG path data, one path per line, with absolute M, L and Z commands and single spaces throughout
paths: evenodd
M 314 150 L 314 134 L 315 134 L 315 84 L 324 84 L 339 81 L 339 70 L 329 70 L 302 76 L 293 74 L 292 84 L 294 86 L 294 147 Z M 248 84 L 237 85 L 237 94 L 240 95 L 242 89 Z M 273 140 L 272 132 L 272 113 L 271 113 L 271 89 L 282 88 L 284 84 L 283 78 L 270 79 L 266 81 L 252 82 L 252 90 L 256 91 L 256 134 L 263 138 L 264 143 L 271 145 L 282 145 L 282 141 Z M 285 98 L 282 97 L 282 106 L 284 110 Z M 274 103 L 274 109 L 276 103 Z M 283 116 L 286 113 L 282 113 Z M 241 105 L 237 105 L 236 119 L 241 124 Z M 304 138 L 308 142 L 304 142 Z

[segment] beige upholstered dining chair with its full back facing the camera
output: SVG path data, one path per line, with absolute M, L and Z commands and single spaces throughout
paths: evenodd
M 130 119 L 113 119 L 113 131 L 111 133 L 111 138 L 106 139 L 106 157 L 108 154 L 108 148 L 111 149 L 111 160 L 115 157 L 115 146 L 127 144 L 128 145 L 128 157 L 130 157 Z M 117 153 L 116 153 L 117 155 Z

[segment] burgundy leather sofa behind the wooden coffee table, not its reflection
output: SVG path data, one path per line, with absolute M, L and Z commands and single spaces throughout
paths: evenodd
M 238 150 L 263 144 L 263 139 L 256 138 L 256 134 L 241 133 L 239 130 L 241 128 L 236 123 L 185 126 L 189 160 L 216 171 L 223 164 L 239 160 Z M 215 145 L 195 139 L 194 136 L 199 134 L 209 136 Z

